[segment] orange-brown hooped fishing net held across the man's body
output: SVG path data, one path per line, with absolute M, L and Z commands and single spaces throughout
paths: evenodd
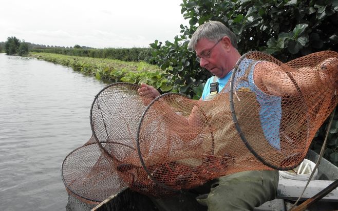
M 161 197 L 236 172 L 296 167 L 337 105 L 338 53 L 283 63 L 249 52 L 208 101 L 144 99 L 139 88 L 113 83 L 93 100 L 92 137 L 62 163 L 69 193 L 101 202 L 129 186 Z

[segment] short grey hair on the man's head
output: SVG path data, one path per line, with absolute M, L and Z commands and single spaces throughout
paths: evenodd
M 200 25 L 197 30 L 194 32 L 191 40 L 189 42 L 188 48 L 190 50 L 195 50 L 195 46 L 198 40 L 206 38 L 213 41 L 218 41 L 223 36 L 230 38 L 231 45 L 237 49 L 237 38 L 236 35 L 224 24 L 217 21 L 210 21 Z

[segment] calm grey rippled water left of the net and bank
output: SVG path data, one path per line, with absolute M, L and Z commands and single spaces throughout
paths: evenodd
M 52 63 L 0 54 L 0 210 L 66 210 L 60 166 L 91 136 L 106 86 Z

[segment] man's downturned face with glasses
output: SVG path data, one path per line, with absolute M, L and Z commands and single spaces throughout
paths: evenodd
M 195 46 L 196 55 L 200 58 L 200 66 L 218 78 L 225 77 L 229 72 L 226 66 L 227 54 L 222 44 L 222 40 L 215 42 L 202 38 Z

